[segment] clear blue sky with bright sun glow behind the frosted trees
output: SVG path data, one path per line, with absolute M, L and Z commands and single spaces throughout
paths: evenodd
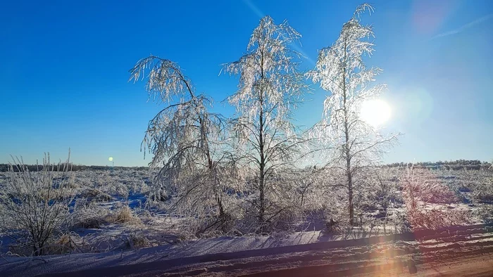
M 493 1 L 371 1 L 375 55 L 400 145 L 385 162 L 493 158 Z M 302 35 L 302 69 L 332 44 L 361 1 L 3 1 L 0 4 L 0 163 L 44 152 L 84 165 L 146 165 L 140 143 L 161 106 L 128 70 L 154 54 L 179 63 L 219 103 L 235 78 L 220 64 L 246 50 L 262 15 Z M 315 88 L 318 85 L 314 85 Z M 320 119 L 325 91 L 296 112 Z

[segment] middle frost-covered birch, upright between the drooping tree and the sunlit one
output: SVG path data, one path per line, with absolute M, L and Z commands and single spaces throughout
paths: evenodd
M 286 21 L 276 25 L 266 16 L 251 34 L 246 54 L 225 65 L 226 72 L 239 75 L 238 90 L 228 101 L 237 110 L 235 136 L 254 176 L 251 207 L 261 226 L 286 208 L 275 176 L 290 165 L 301 143 L 289 122 L 307 88 L 298 72 L 300 54 L 289 47 L 300 37 Z

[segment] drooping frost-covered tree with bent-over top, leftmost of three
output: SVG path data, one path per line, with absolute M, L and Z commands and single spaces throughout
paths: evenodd
M 228 214 L 224 191 L 235 161 L 225 144 L 225 120 L 209 110 L 211 98 L 197 95 L 191 80 L 171 60 L 149 56 L 130 70 L 130 80 L 146 79 L 150 98 L 168 103 L 149 122 L 142 147 L 154 154 L 151 167 L 161 167 L 157 183 L 173 196 L 173 207 L 194 218 L 223 228 Z M 161 198 L 161 195 L 159 195 Z M 201 230 L 197 226 L 197 231 Z

